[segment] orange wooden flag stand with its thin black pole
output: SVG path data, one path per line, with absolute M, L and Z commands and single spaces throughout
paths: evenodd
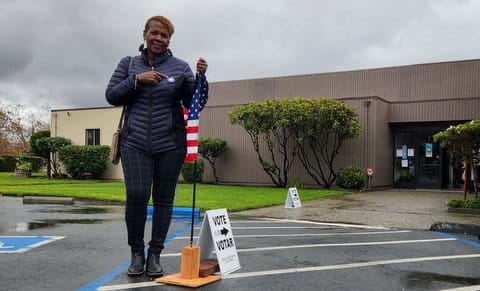
M 171 285 L 180 285 L 191 288 L 197 288 L 222 279 L 221 276 L 209 275 L 200 277 L 200 247 L 193 245 L 193 226 L 195 222 L 195 192 L 197 183 L 197 161 L 194 166 L 193 181 L 193 203 L 192 203 L 192 228 L 190 231 L 190 246 L 182 248 L 182 257 L 180 260 L 180 273 L 168 275 L 155 279 L 157 283 L 165 283 Z

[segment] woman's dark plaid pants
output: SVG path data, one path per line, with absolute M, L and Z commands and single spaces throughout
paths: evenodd
M 143 250 L 147 204 L 153 200 L 152 237 L 149 250 L 160 252 L 172 219 L 173 200 L 186 149 L 177 148 L 155 155 L 146 155 L 125 147 L 121 149 L 127 202 L 125 222 L 128 245 Z

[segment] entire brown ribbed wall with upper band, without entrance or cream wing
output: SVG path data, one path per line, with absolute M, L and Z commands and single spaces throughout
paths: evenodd
M 337 168 L 346 164 L 372 167 L 375 169 L 372 185 L 389 186 L 393 177 L 393 136 L 389 124 L 480 118 L 478 80 L 480 60 L 216 82 L 211 84 L 207 109 L 222 108 L 219 110 L 222 113 L 218 113 L 224 123 L 226 113 L 234 105 L 267 98 L 328 96 L 345 101 L 356 108 L 364 131 L 358 139 L 343 145 L 336 160 Z M 371 101 L 368 107 L 364 105 L 367 100 Z M 210 117 L 212 124 L 217 117 Z M 245 132 L 232 126 L 212 128 L 208 120 L 202 124 L 207 124 L 202 128 L 202 135 L 221 137 L 230 143 L 230 152 L 218 160 L 219 167 L 223 167 L 223 163 L 236 165 L 223 169 L 231 179 L 228 182 L 268 183 L 268 177 L 261 169 L 259 172 L 256 157 L 246 152 L 253 149 Z M 243 156 L 235 156 L 237 151 Z M 313 183 L 303 172 L 301 167 L 294 166 L 291 176 Z

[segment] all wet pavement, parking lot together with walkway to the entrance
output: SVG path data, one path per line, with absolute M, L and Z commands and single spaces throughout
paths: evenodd
M 388 190 L 229 213 L 241 269 L 199 289 L 480 290 L 480 213 L 445 205 L 461 195 Z M 22 200 L 0 195 L 0 290 L 192 290 L 126 275 L 123 205 Z M 172 222 L 167 274 L 190 222 Z M 457 228 L 429 231 L 436 223 Z

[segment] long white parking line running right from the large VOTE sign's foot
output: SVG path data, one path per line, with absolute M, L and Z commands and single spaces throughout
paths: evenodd
M 362 262 L 362 263 L 348 263 L 348 264 L 338 264 L 338 265 L 329 265 L 329 266 L 317 266 L 317 267 L 305 267 L 305 268 L 268 270 L 268 271 L 259 271 L 259 272 L 235 273 L 235 274 L 225 275 L 225 276 L 222 277 L 222 279 L 238 279 L 238 278 L 270 276 L 270 275 L 279 275 L 279 274 L 284 275 L 284 274 L 287 274 L 287 273 L 340 270 L 340 269 L 372 267 L 372 266 L 380 266 L 380 265 L 393 265 L 393 264 L 406 264 L 406 263 L 416 263 L 416 262 L 455 260 L 455 259 L 471 259 L 471 258 L 480 258 L 480 254 L 456 255 L 456 256 L 438 256 L 438 257 L 419 257 L 419 258 L 407 258 L 407 259 L 396 259 L 396 260 L 371 261 L 371 262 Z

